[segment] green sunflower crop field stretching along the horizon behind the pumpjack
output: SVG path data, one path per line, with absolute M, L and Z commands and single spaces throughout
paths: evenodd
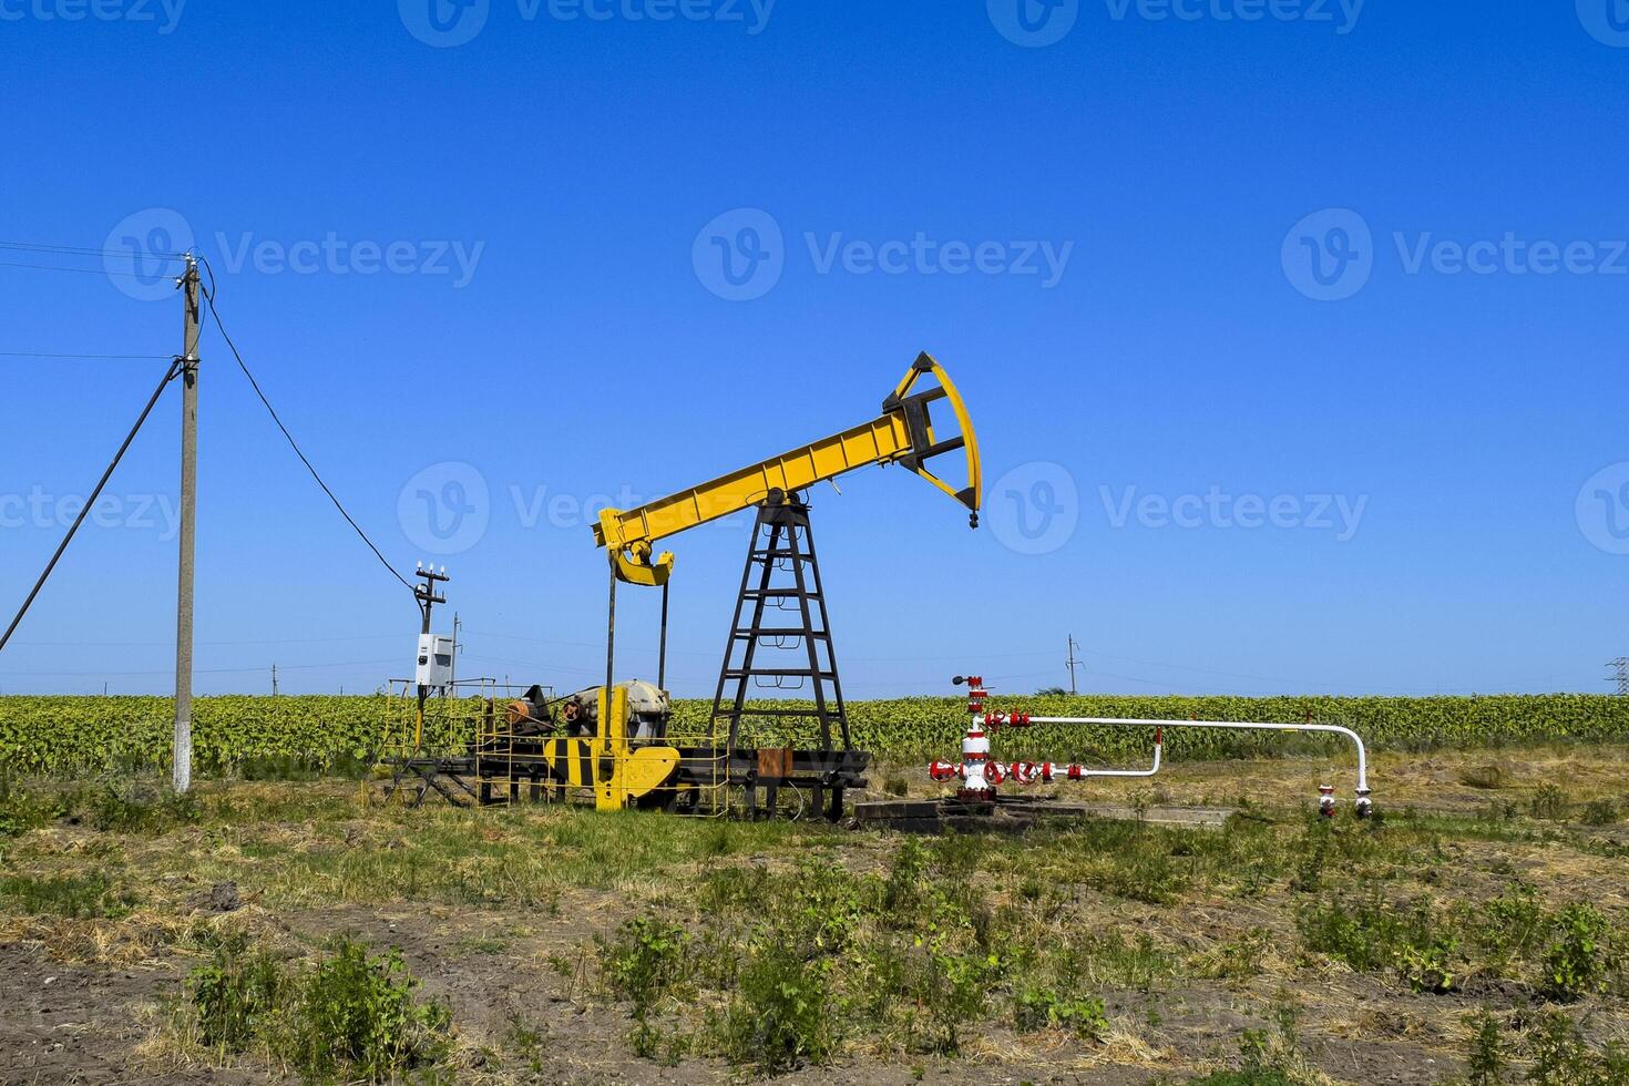
M 358 772 L 399 741 L 399 698 L 205 697 L 194 702 L 192 742 L 199 765 L 223 773 L 287 777 Z M 1536 742 L 1629 741 L 1629 698 L 1582 694 L 1334 698 L 1334 697 L 1109 697 L 1062 694 L 1002 697 L 1003 708 L 1052 716 L 1142 716 L 1165 720 L 1261 720 L 1342 723 L 1372 749 L 1432 751 Z M 674 728 L 705 726 L 710 703 L 674 703 Z M 889 757 L 942 757 L 966 729 L 966 702 L 917 697 L 852 702 L 855 744 Z M 425 733 L 428 747 L 468 742 L 479 698 L 441 705 Z M 0 764 L 11 772 L 83 773 L 165 764 L 171 702 L 158 697 L 0 697 Z M 394 725 L 391 721 L 396 721 Z M 792 736 L 761 736 L 762 741 Z M 1341 739 L 1236 731 L 1179 729 L 1166 736 L 1171 759 L 1220 759 L 1324 752 Z M 1129 757 L 1147 752 L 1147 734 L 1126 728 L 1036 726 L 1012 736 L 1012 757 Z

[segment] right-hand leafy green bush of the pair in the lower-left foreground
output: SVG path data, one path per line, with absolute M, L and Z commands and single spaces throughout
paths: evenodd
M 373 957 L 339 939 L 300 985 L 288 1055 L 308 1081 L 391 1081 L 433 1063 L 448 1047 L 451 1011 L 420 1001 L 399 951 Z

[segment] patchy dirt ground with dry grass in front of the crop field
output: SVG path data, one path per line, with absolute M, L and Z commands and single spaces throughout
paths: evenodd
M 1487 902 L 1523 884 L 1549 913 L 1588 902 L 1629 949 L 1629 834 L 1605 814 L 1621 816 L 1629 798 L 1624 751 L 1383 755 L 1372 770 L 1381 825 L 1359 829 L 1342 809 L 1346 843 L 1313 861 L 1323 845 L 1303 808 L 1333 765 L 1175 765 L 1158 788 L 1090 793 L 1132 808 L 1240 809 L 1225 830 L 1041 830 L 981 839 L 961 858 L 930 845 L 924 892 L 948 886 L 959 902 L 956 884 L 977 884 L 966 909 L 986 912 L 969 931 L 987 922 L 994 935 L 979 938 L 999 959 L 959 1042 L 924 1044 L 927 1034 L 912 1032 L 932 1018 L 929 996 L 863 1009 L 880 982 L 872 966 L 854 964 L 852 948 L 881 946 L 863 939 L 894 925 L 862 917 L 849 956 L 834 957 L 832 985 L 844 993 L 831 1009 L 844 1023 L 834 1050 L 823 1065 L 800 1062 L 779 1076 L 1139 1084 L 1192 1081 L 1254 1058 L 1284 1076 L 1225 1081 L 1443 1083 L 1464 1073 L 1468 1014 L 1482 1006 L 1499 1018 L 1517 1068 L 1552 1006 L 1595 1047 L 1629 1039 L 1621 975 L 1561 1000 L 1543 990 L 1543 946 L 1494 961 L 1474 949 L 1482 936 L 1473 930 Z M 906 767 L 885 767 L 873 783 L 891 777 L 929 793 Z M 295 1079 L 267 1053 L 209 1050 L 187 1036 L 186 977 L 225 931 L 290 961 L 319 954 L 340 933 L 399 948 L 422 995 L 451 1008 L 454 1047 L 427 1071 L 441 1079 L 772 1076 L 751 1060 L 731 1063 L 704 1026 L 709 1008 L 735 998 L 723 982 L 679 985 L 660 1006 L 661 1027 L 687 1037 L 683 1052 L 635 1055 L 627 1000 L 604 975 L 608 946 L 647 915 L 697 938 L 744 941 L 757 913 L 782 905 L 730 904 L 718 887 L 736 876 L 762 873 L 769 892 L 779 886 L 795 899 L 798 865 L 818 856 L 855 886 L 876 887 L 902 848 L 899 835 L 857 829 L 557 808 L 401 811 L 380 804 L 376 785 L 347 782 L 209 783 L 200 793 L 184 817 L 127 829 L 106 827 L 106 811 L 80 796 L 64 817 L 0 839 L 0 1083 Z M 1585 812 L 1598 824 L 1585 824 Z M 940 861 L 959 866 L 933 868 Z M 932 894 L 909 909 L 942 909 L 943 896 Z M 1365 894 L 1399 915 L 1424 904 L 1437 925 L 1432 946 L 1453 946 L 1450 983 L 1420 990 L 1404 969 L 1355 967 L 1310 946 L 1310 910 Z M 919 920 L 899 923 L 909 946 Z M 966 949 L 955 944 L 943 961 L 986 952 L 986 943 L 971 957 L 956 948 Z M 1064 949 L 1054 957 L 1052 948 Z M 1103 1027 L 1020 1031 L 1008 1001 L 1025 970 L 1101 998 Z

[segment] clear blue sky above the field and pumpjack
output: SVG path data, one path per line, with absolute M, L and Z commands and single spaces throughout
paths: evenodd
M 453 550 L 461 674 L 591 682 L 582 508 L 865 422 L 919 350 L 986 526 L 898 471 L 813 495 L 850 697 L 1064 682 L 1069 633 L 1083 689 L 1152 694 L 1605 690 L 1629 653 L 1629 10 L 430 2 L 0 0 L 0 239 L 191 236 L 358 521 Z M 0 350 L 178 347 L 103 274 L 150 262 L 3 262 L 88 270 L 0 267 Z M 165 363 L 0 365 L 10 615 Z M 412 601 L 213 332 L 204 366 L 197 689 L 404 674 Z M 0 690 L 169 689 L 178 410 Z M 744 531 L 670 542 L 676 694 Z

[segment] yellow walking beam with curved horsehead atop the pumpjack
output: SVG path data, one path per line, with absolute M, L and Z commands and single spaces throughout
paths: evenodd
M 927 373 L 932 373 L 938 381 L 959 427 L 961 448 L 968 458 L 968 485 L 959 490 L 925 467 L 925 461 L 938 454 L 935 446 L 942 443 L 942 438 L 935 433 L 932 422 L 927 422 L 924 427 L 927 446 L 917 448 L 917 441 L 924 435 L 917 435 L 917 441 L 912 440 L 902 405 L 917 381 Z M 973 513 L 973 523 L 977 524 L 984 479 L 973 418 L 950 374 L 927 353 L 919 355 L 911 370 L 906 371 L 904 379 L 885 402 L 880 418 L 635 510 L 601 510 L 599 523 L 595 524 L 595 545 L 609 549 L 617 580 L 629 585 L 660 586 L 673 573 L 673 552 L 661 552 L 653 558 L 652 544 L 658 539 L 759 505 L 771 490 L 795 493 L 860 467 L 896 462 L 902 462 L 909 471 L 964 505 Z

